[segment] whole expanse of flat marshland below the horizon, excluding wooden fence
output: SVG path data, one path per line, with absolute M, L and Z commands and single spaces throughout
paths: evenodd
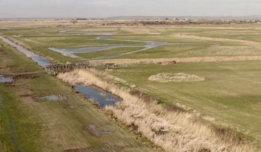
M 260 151 L 259 23 L 71 21 L 0 21 L 0 151 Z

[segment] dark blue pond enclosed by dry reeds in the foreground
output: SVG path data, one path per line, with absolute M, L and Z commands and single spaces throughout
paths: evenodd
M 114 106 L 117 102 L 121 102 L 121 98 L 118 96 L 103 90 L 102 88 L 91 85 L 84 86 L 83 84 L 75 85 L 79 92 L 84 94 L 86 98 L 93 98 L 95 102 L 100 104 L 100 107 L 104 108 L 106 105 Z

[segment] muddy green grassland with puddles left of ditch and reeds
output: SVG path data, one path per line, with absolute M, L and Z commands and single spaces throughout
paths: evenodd
M 0 151 L 153 151 L 146 139 L 127 133 L 21 52 L 0 44 L 0 73 L 14 79 L 0 83 Z M 67 99 L 40 99 L 59 94 Z

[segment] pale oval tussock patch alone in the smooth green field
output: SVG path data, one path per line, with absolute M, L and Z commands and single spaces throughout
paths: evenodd
M 191 81 L 204 81 L 205 78 L 190 75 L 185 73 L 159 73 L 157 75 L 153 75 L 149 77 L 150 81 L 158 81 L 158 82 L 191 82 Z

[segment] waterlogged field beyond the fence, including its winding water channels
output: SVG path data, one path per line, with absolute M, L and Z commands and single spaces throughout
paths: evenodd
M 153 26 L 23 27 L 1 29 L 0 32 L 10 37 L 22 35 L 12 38 L 62 63 L 102 58 L 260 55 L 259 45 L 239 41 L 257 42 L 257 36 L 261 35 L 260 30 L 253 29 L 174 29 Z M 257 38 L 254 40 L 253 37 Z

